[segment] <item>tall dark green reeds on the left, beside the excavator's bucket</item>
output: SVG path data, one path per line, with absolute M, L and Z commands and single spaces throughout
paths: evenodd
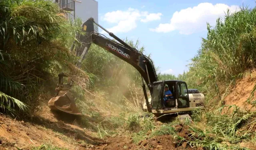
M 34 108 L 52 76 L 74 72 L 68 46 L 79 28 L 45 0 L 2 0 L 0 22 L 1 108 L 13 112 L 11 103 L 20 110 Z

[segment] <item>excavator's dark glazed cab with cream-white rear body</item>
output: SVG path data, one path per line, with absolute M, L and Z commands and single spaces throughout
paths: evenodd
M 172 92 L 173 98 L 164 107 L 164 87 Z M 179 80 L 163 80 L 152 84 L 151 110 L 155 116 L 179 112 L 191 112 L 196 108 L 204 108 L 204 94 L 197 89 L 189 89 L 186 82 Z

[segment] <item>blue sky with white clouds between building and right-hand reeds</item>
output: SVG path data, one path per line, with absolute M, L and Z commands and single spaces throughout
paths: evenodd
M 256 4 L 254 0 L 97 1 L 100 25 L 119 38 L 139 39 L 155 67 L 175 75 L 188 70 L 186 65 L 206 38 L 206 22 L 214 26 L 227 8 L 234 12 L 243 3 L 251 8 Z

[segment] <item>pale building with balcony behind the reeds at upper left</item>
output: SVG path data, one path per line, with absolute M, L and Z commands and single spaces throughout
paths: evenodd
M 85 22 L 88 18 L 94 18 L 98 23 L 98 2 L 95 0 L 54 0 L 58 2 L 60 9 L 71 11 L 70 18 L 80 18 Z

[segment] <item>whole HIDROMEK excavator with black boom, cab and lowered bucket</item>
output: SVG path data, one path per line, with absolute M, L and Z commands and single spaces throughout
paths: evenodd
M 95 32 L 95 24 L 102 28 L 116 41 L 111 40 Z M 76 50 L 76 56 L 78 61 L 76 66 L 80 68 L 82 60 L 86 58 L 86 54 L 90 49 L 92 43 L 104 48 L 108 52 L 114 54 L 118 58 L 132 65 L 141 75 L 142 78 L 142 89 L 145 98 L 145 106 L 148 112 L 152 112 L 154 116 L 160 117 L 165 114 L 182 114 L 185 117 L 190 118 L 189 114 L 196 108 L 204 108 L 204 94 L 200 93 L 197 89 L 188 89 L 186 82 L 180 80 L 158 80 L 156 70 L 152 60 L 148 56 L 142 54 L 142 52 L 136 50 L 109 32 L 93 18 L 89 18 L 81 26 L 82 32 L 85 34 L 78 34 L 77 39 L 82 43 L 80 46 L 75 46 L 75 42 L 70 48 L 70 51 Z M 56 88 L 56 96 L 49 100 L 48 106 L 52 110 L 60 110 L 70 114 L 79 115 L 80 112 L 76 108 L 74 102 L 74 96 L 69 91 L 72 87 L 72 81 L 68 77 L 68 84 L 63 83 L 63 77 L 68 77 L 65 74 L 59 74 L 59 84 Z M 146 85 L 150 91 L 150 101 L 146 91 Z M 172 99 L 169 99 L 164 105 L 164 87 L 168 87 L 168 90 L 172 92 Z

